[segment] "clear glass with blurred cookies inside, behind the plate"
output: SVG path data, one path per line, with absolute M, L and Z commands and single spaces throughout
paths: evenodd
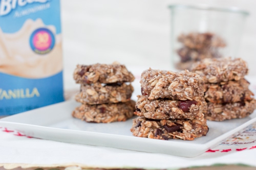
M 248 12 L 237 8 L 170 5 L 172 69 L 204 58 L 238 57 Z

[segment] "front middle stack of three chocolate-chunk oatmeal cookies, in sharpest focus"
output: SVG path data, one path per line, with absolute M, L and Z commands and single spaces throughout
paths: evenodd
M 141 75 L 131 131 L 134 136 L 155 139 L 194 140 L 206 135 L 207 105 L 203 79 L 189 71 L 148 69 Z

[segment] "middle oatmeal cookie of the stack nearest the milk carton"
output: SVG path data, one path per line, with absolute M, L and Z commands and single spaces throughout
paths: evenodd
M 125 83 L 81 84 L 80 92 L 76 94 L 75 100 L 88 105 L 127 102 L 131 100 L 133 91 L 133 86 Z

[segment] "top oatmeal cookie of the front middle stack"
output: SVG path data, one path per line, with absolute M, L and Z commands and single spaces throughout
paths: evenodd
M 168 98 L 190 100 L 204 95 L 203 79 L 188 70 L 173 72 L 147 69 L 141 74 L 141 94 L 149 100 Z

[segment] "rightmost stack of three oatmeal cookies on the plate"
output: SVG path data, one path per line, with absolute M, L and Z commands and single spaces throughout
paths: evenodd
M 205 59 L 195 63 L 192 71 L 205 81 L 204 98 L 208 103 L 208 120 L 222 121 L 248 116 L 256 108 L 249 82 L 247 63 L 240 59 Z

